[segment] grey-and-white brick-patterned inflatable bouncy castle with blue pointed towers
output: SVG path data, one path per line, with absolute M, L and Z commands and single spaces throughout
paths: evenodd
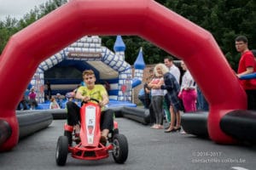
M 131 65 L 125 61 L 122 37 L 117 36 L 113 49 L 114 53 L 102 47 L 102 40 L 98 36 L 85 36 L 45 59 L 31 81 L 38 94 L 38 102 L 44 103 L 45 82 L 50 82 L 52 94 L 67 94 L 83 81 L 82 72 L 86 69 L 96 72 L 97 83 L 108 83 L 110 99 L 131 102 L 131 90 L 143 78 L 145 63 L 142 49 L 134 64 L 134 77 Z

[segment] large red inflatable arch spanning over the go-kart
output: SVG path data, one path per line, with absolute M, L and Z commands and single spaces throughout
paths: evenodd
M 137 35 L 183 59 L 210 104 L 210 138 L 235 142 L 219 121 L 228 111 L 247 109 L 246 94 L 211 33 L 153 0 L 73 0 L 10 38 L 0 60 L 0 120 L 12 134 L 0 150 L 18 143 L 15 116 L 38 65 L 84 35 Z

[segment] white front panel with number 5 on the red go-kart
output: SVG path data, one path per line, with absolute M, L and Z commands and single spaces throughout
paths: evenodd
M 87 142 L 88 144 L 93 144 L 96 124 L 96 107 L 87 106 L 85 109 L 85 113 Z

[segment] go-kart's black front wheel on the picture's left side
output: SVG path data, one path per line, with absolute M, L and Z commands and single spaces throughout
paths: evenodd
M 67 136 L 60 136 L 58 139 L 55 160 L 57 165 L 64 166 L 67 161 L 68 154 L 68 139 Z

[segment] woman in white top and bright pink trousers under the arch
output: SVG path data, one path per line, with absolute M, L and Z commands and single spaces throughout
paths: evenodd
M 184 111 L 196 111 L 196 89 L 195 89 L 195 81 L 191 76 L 187 65 L 185 65 L 184 61 L 181 61 L 181 66 L 183 68 L 184 75 L 182 79 L 181 89 L 178 94 L 179 98 L 183 100 Z

